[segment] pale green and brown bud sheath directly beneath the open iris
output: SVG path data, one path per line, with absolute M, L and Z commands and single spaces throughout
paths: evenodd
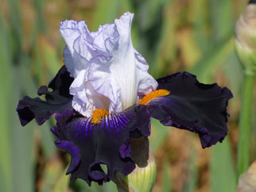
M 147 137 L 131 139 L 131 156 L 136 168 L 130 175 L 117 173 L 113 179 L 118 191 L 148 192 L 153 189 L 156 179 L 157 166 Z

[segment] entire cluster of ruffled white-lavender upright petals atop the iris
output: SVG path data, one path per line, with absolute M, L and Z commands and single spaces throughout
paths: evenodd
M 61 23 L 60 33 L 67 43 L 64 63 L 75 79 L 70 87 L 72 106 L 84 116 L 93 109 L 121 112 L 157 88 L 147 72 L 148 63 L 133 47 L 133 17 L 124 13 L 114 24 L 100 25 L 91 33 L 84 21 Z

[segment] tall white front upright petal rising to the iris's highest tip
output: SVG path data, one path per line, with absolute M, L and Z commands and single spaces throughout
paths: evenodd
M 96 92 L 110 98 L 110 111 L 115 113 L 137 101 L 136 62 L 130 39 L 132 18 L 133 14 L 126 13 L 119 20 L 116 19 L 113 25 L 103 25 L 102 36 L 106 38 L 104 46 L 111 52 L 111 60 L 105 56 L 91 60 L 94 67 L 88 75 Z

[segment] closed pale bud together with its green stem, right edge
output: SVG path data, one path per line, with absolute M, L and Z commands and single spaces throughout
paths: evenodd
M 239 117 L 238 175 L 250 162 L 250 127 L 254 75 L 256 72 L 256 1 L 251 0 L 235 25 L 235 48 L 243 69 L 242 102 Z

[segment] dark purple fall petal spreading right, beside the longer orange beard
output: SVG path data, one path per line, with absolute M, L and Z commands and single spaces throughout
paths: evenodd
M 199 133 L 203 148 L 222 142 L 227 135 L 227 102 L 233 97 L 226 87 L 205 85 L 188 72 L 157 79 L 158 89 L 171 91 L 146 106 L 163 125 Z

